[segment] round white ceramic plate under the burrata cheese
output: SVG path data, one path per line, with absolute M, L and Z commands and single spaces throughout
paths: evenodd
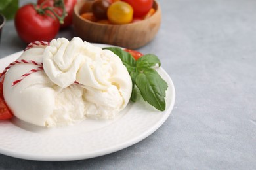
M 0 59 L 0 72 L 20 54 Z M 0 120 L 0 153 L 26 160 L 70 161 L 110 154 L 142 141 L 167 120 L 175 102 L 171 78 L 162 68 L 158 72 L 169 84 L 164 112 L 141 100 L 130 102 L 114 120 L 87 119 L 68 127 L 47 129 L 17 118 Z

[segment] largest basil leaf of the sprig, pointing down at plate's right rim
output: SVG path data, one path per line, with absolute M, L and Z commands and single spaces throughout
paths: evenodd
M 155 69 L 148 68 L 139 73 L 136 77 L 136 86 L 144 101 L 160 111 L 165 110 L 165 91 L 168 85 Z

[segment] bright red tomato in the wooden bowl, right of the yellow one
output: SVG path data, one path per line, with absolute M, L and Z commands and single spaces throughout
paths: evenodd
M 121 0 L 133 7 L 133 16 L 144 16 L 153 6 L 153 0 Z

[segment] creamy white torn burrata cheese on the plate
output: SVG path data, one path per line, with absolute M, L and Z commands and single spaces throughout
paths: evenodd
M 38 126 L 65 126 L 85 118 L 111 119 L 131 97 L 131 77 L 110 50 L 102 50 L 74 37 L 53 39 L 35 46 L 17 60 L 43 63 L 43 71 L 21 78 L 37 65 L 12 66 L 5 76 L 3 93 L 14 115 Z

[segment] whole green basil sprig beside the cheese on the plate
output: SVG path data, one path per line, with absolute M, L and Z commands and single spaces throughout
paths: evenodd
M 158 57 L 154 54 L 146 54 L 136 61 L 129 52 L 125 52 L 121 48 L 108 47 L 104 49 L 108 49 L 119 56 L 127 68 L 133 82 L 131 101 L 137 101 L 141 95 L 144 101 L 156 109 L 165 110 L 165 91 L 168 84 L 153 68 L 161 66 Z

